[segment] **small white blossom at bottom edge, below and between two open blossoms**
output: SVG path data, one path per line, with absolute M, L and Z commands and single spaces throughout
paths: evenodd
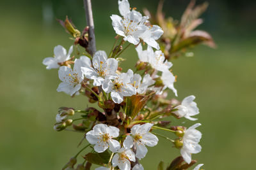
M 132 152 L 130 148 L 120 148 L 120 150 L 113 156 L 112 165 L 113 167 L 118 166 L 120 170 L 130 170 L 130 161 L 135 162 L 134 152 Z

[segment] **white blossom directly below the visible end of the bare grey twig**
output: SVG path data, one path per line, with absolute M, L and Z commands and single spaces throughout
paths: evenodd
M 94 86 L 100 86 L 104 81 L 117 76 L 118 61 L 116 59 L 108 59 L 106 52 L 97 51 L 93 56 L 92 62 L 88 57 L 87 60 L 87 66 L 81 69 L 86 78 L 94 80 Z

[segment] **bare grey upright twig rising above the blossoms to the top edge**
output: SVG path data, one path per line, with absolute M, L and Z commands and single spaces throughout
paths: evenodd
M 96 52 L 96 41 L 95 41 L 95 33 L 94 33 L 94 24 L 93 24 L 93 15 L 92 15 L 92 3 L 91 0 L 83 0 L 84 1 L 84 11 L 86 15 L 86 22 L 89 26 L 89 39 L 88 39 L 88 51 L 90 55 L 94 55 Z

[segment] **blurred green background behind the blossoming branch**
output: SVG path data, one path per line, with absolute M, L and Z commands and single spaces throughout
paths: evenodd
M 158 1 L 131 1 L 138 10 L 156 10 Z M 204 1 L 198 1 L 202 3 Z M 179 19 L 189 1 L 166 0 L 164 11 Z M 202 152 L 193 155 L 204 169 L 255 169 L 256 3 L 209 1 L 199 29 L 210 32 L 217 49 L 197 46 L 194 57 L 173 60 L 179 97 L 194 94 L 200 108 Z M 92 0 L 97 49 L 113 45 L 115 32 L 109 16 L 118 14 L 117 0 Z M 82 0 L 1 1 L 0 4 L 0 169 L 61 169 L 79 149 L 83 134 L 52 129 L 60 106 L 84 109 L 86 97 L 56 92 L 58 71 L 46 70 L 45 57 L 56 45 L 69 48 L 69 35 L 55 18 L 68 15 L 81 30 L 85 26 Z M 134 48 L 123 55 L 125 69 L 137 59 Z M 173 96 L 173 94 L 172 94 Z M 182 120 L 186 121 L 186 120 Z M 185 122 L 187 126 L 195 122 Z M 173 125 L 180 122 L 173 120 Z M 172 135 L 172 134 L 171 134 Z M 85 145 L 85 142 L 83 143 Z M 141 162 L 157 169 L 179 155 L 161 139 Z

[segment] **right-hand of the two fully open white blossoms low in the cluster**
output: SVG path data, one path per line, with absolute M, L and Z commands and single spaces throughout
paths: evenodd
M 131 135 L 127 136 L 124 140 L 124 147 L 131 148 L 136 146 L 136 157 L 142 159 L 147 154 L 147 146 L 156 146 L 158 138 L 150 133 L 150 129 L 154 124 L 134 125 L 131 129 Z

